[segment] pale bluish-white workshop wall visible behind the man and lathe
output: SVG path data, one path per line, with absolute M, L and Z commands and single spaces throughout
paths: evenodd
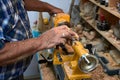
M 45 2 L 48 2 L 56 7 L 59 7 L 61 9 L 63 9 L 63 11 L 65 13 L 68 13 L 69 11 L 69 7 L 71 4 L 72 0 L 43 0 Z M 75 0 L 75 3 L 77 4 L 79 2 L 79 0 Z M 29 15 L 29 20 L 30 20 L 30 25 L 31 27 L 34 25 L 34 21 L 38 20 L 39 17 L 39 13 L 38 12 L 33 12 L 33 11 L 29 11 L 28 12 Z M 44 17 L 49 17 L 47 13 L 43 14 Z M 25 71 L 24 76 L 36 76 L 39 75 L 39 71 L 38 71 L 38 64 L 37 64 L 37 59 L 36 56 L 33 57 L 33 60 L 30 64 L 30 66 L 28 67 L 28 69 Z

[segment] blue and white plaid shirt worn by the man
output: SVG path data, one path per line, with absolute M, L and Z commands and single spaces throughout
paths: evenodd
M 23 0 L 0 0 L 0 40 L 7 43 L 31 37 L 29 19 Z M 0 41 L 0 46 L 1 44 L 4 45 Z M 11 80 L 23 74 L 31 59 L 32 56 L 14 64 L 0 66 L 0 80 Z

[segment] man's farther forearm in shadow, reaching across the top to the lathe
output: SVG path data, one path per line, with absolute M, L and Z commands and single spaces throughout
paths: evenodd
M 24 3 L 26 10 L 29 11 L 49 12 L 52 14 L 63 13 L 61 9 L 39 0 L 24 0 Z

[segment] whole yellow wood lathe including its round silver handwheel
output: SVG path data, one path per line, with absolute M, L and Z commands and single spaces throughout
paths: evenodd
M 70 16 L 65 13 L 56 14 L 54 17 L 55 26 L 68 25 Z M 61 46 L 59 46 L 61 47 Z M 73 54 L 65 54 L 64 49 L 56 48 L 54 50 L 53 64 L 61 65 L 65 74 L 64 80 L 82 80 L 91 78 L 89 72 L 98 65 L 98 59 L 89 54 L 89 51 L 78 41 L 71 41 Z

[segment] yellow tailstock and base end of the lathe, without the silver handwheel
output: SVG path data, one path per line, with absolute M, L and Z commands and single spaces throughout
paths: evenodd
M 79 41 L 73 42 L 72 47 L 74 49 L 74 56 L 72 58 L 72 61 L 67 61 L 63 64 L 63 68 L 68 80 L 81 80 L 91 78 L 88 73 L 82 72 L 78 67 L 79 58 L 81 58 L 82 55 L 88 54 L 88 50 L 86 50 Z

